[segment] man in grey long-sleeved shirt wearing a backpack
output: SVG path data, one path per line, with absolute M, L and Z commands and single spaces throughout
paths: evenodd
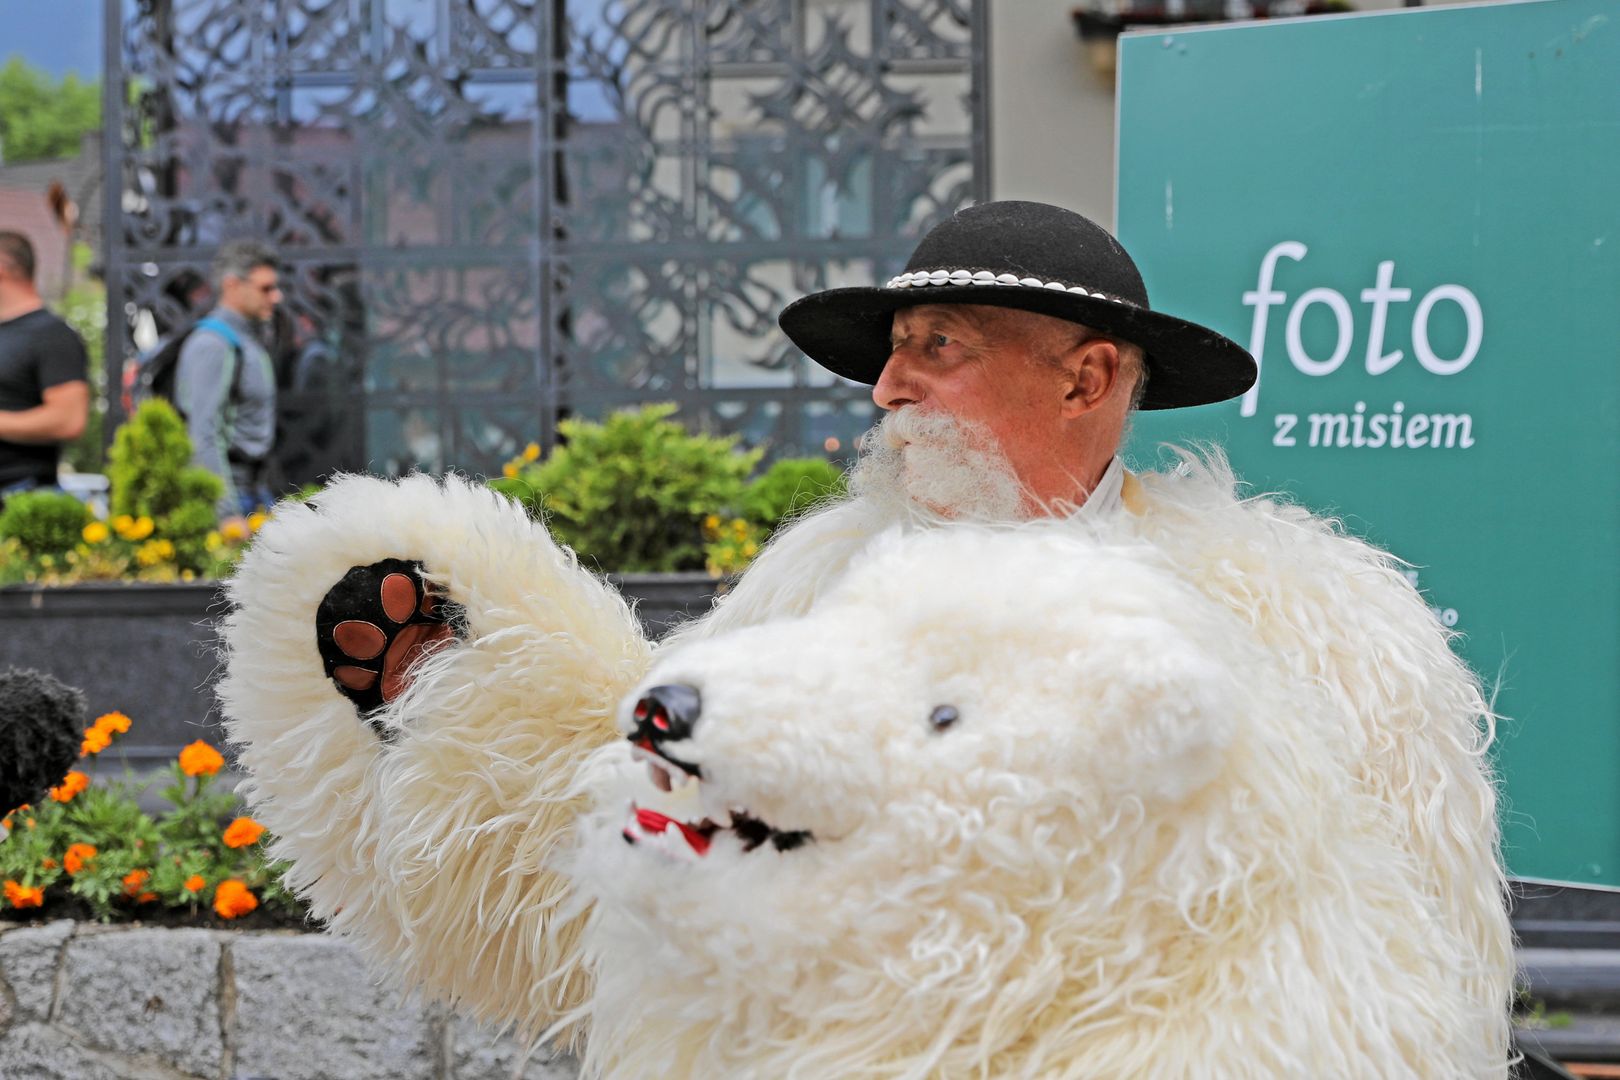
M 173 403 L 191 434 L 191 460 L 225 481 L 220 523 L 237 521 L 274 495 L 266 465 L 275 445 L 275 369 L 256 335 L 282 290 L 275 253 L 251 240 L 224 244 L 214 257 L 219 304 L 180 345 Z

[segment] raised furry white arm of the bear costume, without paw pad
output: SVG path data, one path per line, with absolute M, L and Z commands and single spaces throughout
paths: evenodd
M 248 800 L 313 913 L 402 986 L 539 1031 L 590 986 L 548 861 L 648 646 L 617 593 L 481 484 L 345 476 L 318 502 L 277 507 L 228 586 L 219 696 Z M 416 667 L 384 745 L 322 675 L 314 612 L 390 557 L 423 560 L 470 633 Z

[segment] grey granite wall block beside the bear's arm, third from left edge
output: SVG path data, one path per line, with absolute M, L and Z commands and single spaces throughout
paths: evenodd
M 238 1077 L 431 1080 L 439 1044 L 428 1012 L 366 976 L 360 955 L 324 934 L 233 938 L 232 1046 Z

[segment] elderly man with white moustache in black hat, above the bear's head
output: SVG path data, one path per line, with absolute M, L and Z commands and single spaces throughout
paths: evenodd
M 962 210 L 885 285 L 805 296 L 781 324 L 888 415 L 855 497 L 778 534 L 672 641 L 808 610 L 896 525 L 1105 518 L 1140 497 L 1118 457 L 1132 410 L 1221 402 L 1256 377 L 1243 347 L 1153 311 L 1105 228 L 1042 202 Z

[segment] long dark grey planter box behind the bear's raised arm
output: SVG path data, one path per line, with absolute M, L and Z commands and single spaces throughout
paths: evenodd
M 609 578 L 635 601 L 642 625 L 661 636 L 708 610 L 721 583 L 705 573 Z M 84 690 L 91 716 L 113 709 L 136 721 L 120 751 L 134 766 L 167 763 L 180 746 L 222 743 L 212 685 L 217 581 L 92 583 L 0 588 L 0 669 L 36 667 Z

